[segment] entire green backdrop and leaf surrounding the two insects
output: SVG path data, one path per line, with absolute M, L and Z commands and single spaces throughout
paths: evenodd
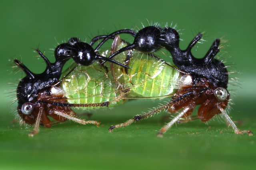
M 198 32 L 205 32 L 206 41 L 194 47 L 196 57 L 203 57 L 215 38 L 225 41 L 219 56 L 232 66 L 229 70 L 235 73 L 230 77 L 239 78 L 241 87 L 229 86 L 234 91 L 230 116 L 243 121 L 240 129 L 256 133 L 255 9 L 253 0 L 1 1 L 0 169 L 254 169 L 255 135 L 236 135 L 221 119 L 179 124 L 164 138 L 157 138 L 168 114 L 161 112 L 108 133 L 110 125 L 147 111 L 159 101 L 134 100 L 96 110 L 90 119 L 101 121 L 99 128 L 67 121 L 51 129 L 41 127 L 31 138 L 31 127 L 11 123 L 16 104 L 9 106 L 14 96 L 6 90 L 15 89 L 21 78 L 20 72 L 11 73 L 9 60 L 14 57 L 22 58 L 33 72 L 44 71 L 46 65 L 34 57 L 32 48 L 39 46 L 53 62 L 50 49 L 70 37 L 87 37 L 89 42 L 98 34 L 141 28 L 141 23 L 148 26 L 148 21 L 162 27 L 168 22 L 178 25 L 182 49 Z

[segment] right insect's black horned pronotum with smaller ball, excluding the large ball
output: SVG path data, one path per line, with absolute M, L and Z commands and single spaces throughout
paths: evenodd
M 202 34 L 198 34 L 188 45 L 186 50 L 179 48 L 179 34 L 170 27 L 161 30 L 162 46 L 172 54 L 173 63 L 183 72 L 190 73 L 194 82 L 199 82 L 202 76 L 206 77 L 215 87 L 227 88 L 228 71 L 225 65 L 218 59 L 214 59 L 220 51 L 220 39 L 216 39 L 210 50 L 202 59 L 195 58 L 191 49 L 202 38 Z M 194 76 L 196 75 L 196 76 Z

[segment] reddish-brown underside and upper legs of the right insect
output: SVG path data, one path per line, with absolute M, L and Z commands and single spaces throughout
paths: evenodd
M 181 96 L 184 96 L 184 94 L 188 93 L 189 91 L 192 91 L 192 93 L 186 98 L 174 102 L 174 104 L 168 108 L 168 111 L 170 113 L 177 112 L 182 109 L 182 107 L 189 106 L 190 109 L 182 116 L 186 118 L 192 114 L 194 107 L 201 105 L 197 112 L 198 118 L 203 122 L 208 121 L 214 117 L 214 115 L 221 113 L 219 109 L 220 107 L 225 109 L 228 106 L 229 95 L 226 100 L 219 101 L 214 95 L 214 90 L 216 90 L 216 87 L 206 81 L 206 79 L 200 82 L 200 84 L 195 84 L 193 86 L 183 86 L 172 98 L 174 101 L 176 101 Z

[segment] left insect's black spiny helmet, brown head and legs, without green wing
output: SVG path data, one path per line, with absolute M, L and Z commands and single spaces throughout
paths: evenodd
M 87 124 L 93 123 L 99 125 L 98 121 L 86 121 L 78 119 L 76 113 L 72 111 L 71 107 L 95 107 L 108 106 L 110 102 L 94 103 L 94 104 L 68 104 L 63 90 L 60 88 L 59 79 L 62 73 L 64 64 L 73 58 L 79 65 L 88 66 L 96 60 L 106 60 L 112 63 L 129 68 L 114 60 L 102 57 L 95 53 L 94 49 L 87 43 L 83 43 L 78 38 L 71 38 L 68 43 L 58 45 L 54 51 L 56 61 L 50 61 L 36 49 L 38 54 L 46 62 L 46 70 L 41 74 L 34 74 L 18 59 L 14 60 L 26 74 L 20 80 L 17 87 L 18 98 L 18 114 L 22 120 L 34 125 L 34 130 L 29 135 L 34 135 L 39 132 L 39 125 L 51 127 L 52 122 L 48 116 L 56 121 L 63 122 L 66 119 L 71 119 L 78 123 Z

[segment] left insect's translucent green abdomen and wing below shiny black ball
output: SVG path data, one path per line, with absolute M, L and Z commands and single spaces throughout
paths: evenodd
M 78 66 L 62 81 L 62 88 L 69 103 L 108 102 L 118 96 L 110 71 L 98 62 L 91 66 Z

